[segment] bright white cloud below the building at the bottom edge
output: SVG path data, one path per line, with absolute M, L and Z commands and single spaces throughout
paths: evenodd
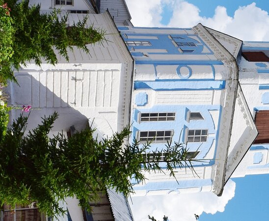
M 223 212 L 227 202 L 235 195 L 235 187 L 235 182 L 229 180 L 222 196 L 211 192 L 136 196 L 132 197 L 130 206 L 135 221 L 149 221 L 148 215 L 157 220 L 166 215 L 169 221 L 193 221 L 194 214 Z

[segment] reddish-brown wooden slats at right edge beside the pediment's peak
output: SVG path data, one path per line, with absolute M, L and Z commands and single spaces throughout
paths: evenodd
M 255 123 L 259 132 L 254 143 L 269 143 L 269 111 L 258 111 Z

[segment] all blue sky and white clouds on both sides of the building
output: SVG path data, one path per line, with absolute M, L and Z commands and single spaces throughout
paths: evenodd
M 135 26 L 189 28 L 201 22 L 241 40 L 269 41 L 269 0 L 126 2 Z M 180 211 L 181 219 L 172 221 L 194 221 L 194 213 L 201 214 L 199 221 L 264 221 L 268 220 L 268 185 L 269 174 L 247 175 L 230 180 L 221 197 L 213 193 L 134 197 L 131 207 L 137 221 L 144 221 L 143 213 L 161 219 L 163 213 L 172 217 L 173 211 Z

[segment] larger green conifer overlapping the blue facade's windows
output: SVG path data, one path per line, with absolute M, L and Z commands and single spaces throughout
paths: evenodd
M 192 159 L 187 159 L 187 149 L 180 143 L 167 143 L 166 149 L 147 157 L 149 143 L 140 147 L 134 141 L 124 147 L 129 128 L 101 141 L 94 138 L 92 128 L 68 139 L 61 134 L 49 138 L 57 113 L 26 134 L 27 118 L 20 116 L 0 139 L 1 204 L 34 201 L 41 212 L 54 216 L 64 212 L 59 200 L 76 196 L 82 207 L 90 209 L 88 202 L 98 199 L 97 193 L 106 188 L 133 193 L 131 178 L 145 181 L 143 171 L 162 171 L 160 163 L 166 164 L 164 169 L 171 176 L 175 168 L 191 166 Z

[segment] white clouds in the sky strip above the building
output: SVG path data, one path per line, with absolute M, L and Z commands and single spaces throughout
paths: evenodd
M 200 10 L 185 0 L 127 0 L 135 26 L 160 27 L 163 6 L 173 8 L 168 27 L 190 28 L 198 23 L 246 41 L 269 41 L 269 14 L 251 3 L 239 7 L 233 17 L 217 6 L 213 17 L 200 16 Z

